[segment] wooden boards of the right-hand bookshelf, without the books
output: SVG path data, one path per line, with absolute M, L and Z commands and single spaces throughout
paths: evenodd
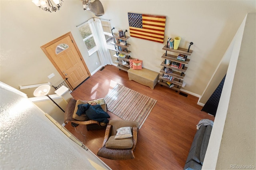
M 188 49 L 184 49 L 184 48 L 170 49 L 166 46 L 167 45 L 164 45 L 164 47 L 162 48 L 166 52 L 161 57 L 161 58 L 164 59 L 164 61 L 161 63 L 163 68 L 160 70 L 160 76 L 159 76 L 159 79 L 158 79 L 159 84 L 161 86 L 169 87 L 169 85 L 166 82 L 170 82 L 170 83 L 174 84 L 174 87 L 170 87 L 170 89 L 180 91 L 180 88 L 182 87 L 183 79 L 185 77 L 185 72 L 188 69 L 187 65 L 188 65 L 190 59 L 187 58 L 186 61 L 182 61 L 182 60 L 177 59 L 177 57 L 178 57 L 179 54 L 190 56 L 193 51 L 190 50 L 188 52 Z M 168 51 L 171 52 L 172 54 L 167 53 Z M 173 53 L 175 53 L 175 55 Z M 184 64 L 184 67 L 181 69 L 181 68 L 173 67 L 171 65 L 167 65 L 167 64 L 165 64 L 166 60 L 170 60 L 171 62 Z M 172 73 L 165 73 L 165 71 L 164 71 L 165 68 L 172 69 Z M 171 81 L 170 79 L 164 78 L 163 77 L 164 74 L 172 76 L 172 77 L 174 77 L 174 79 Z

